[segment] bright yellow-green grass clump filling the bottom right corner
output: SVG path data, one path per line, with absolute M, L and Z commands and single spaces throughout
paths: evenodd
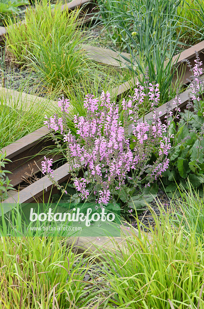
M 203 235 L 197 239 L 182 222 L 173 226 L 169 214 L 153 217 L 156 226 L 149 235 L 137 236 L 133 229 L 126 245 L 104 250 L 104 280 L 112 294 L 108 308 L 203 309 Z

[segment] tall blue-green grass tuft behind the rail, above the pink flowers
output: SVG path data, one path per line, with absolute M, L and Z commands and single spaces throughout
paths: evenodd
M 112 29 L 113 42 L 120 47 L 125 46 L 131 53 L 131 59 L 122 54 L 120 56 L 129 62 L 129 69 L 138 76 L 143 86 L 145 71 L 149 68 L 149 82 L 159 84 L 160 104 L 175 96 L 179 83 L 178 81 L 173 85 L 177 61 L 173 56 L 177 53 L 179 3 L 180 0 L 99 2 L 103 21 Z

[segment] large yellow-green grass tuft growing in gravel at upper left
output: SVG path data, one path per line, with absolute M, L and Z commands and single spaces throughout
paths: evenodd
M 9 27 L 6 56 L 18 66 L 31 66 L 39 72 L 49 89 L 63 91 L 74 87 L 88 69 L 81 44 L 79 10 L 61 11 L 62 2 L 53 9 L 47 0 L 35 2 L 26 11 L 25 21 Z

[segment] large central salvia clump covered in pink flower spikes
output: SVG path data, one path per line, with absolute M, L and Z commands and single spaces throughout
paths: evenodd
M 151 123 L 139 122 L 139 105 L 145 97 L 149 98 L 153 110 Z M 141 206 L 142 183 L 145 189 L 152 187 L 157 177 L 169 167 L 167 158 L 171 148 L 170 137 L 165 136 L 167 126 L 162 125 L 157 111 L 160 92 L 158 84 L 149 83 L 149 87 L 137 84 L 134 96 L 121 104 L 124 125 L 119 121 L 119 104 L 111 101 L 110 93 L 102 92 L 100 99 L 86 95 L 84 108 L 86 116 L 74 115 L 74 124 L 78 136 L 67 129 L 65 114 L 68 113 L 68 100 L 60 100 L 62 117 L 45 116 L 45 124 L 51 130 L 60 130 L 63 141 L 67 144 L 66 153 L 52 132 L 58 147 L 64 152 L 76 197 L 82 200 L 96 201 L 100 205 L 115 203 L 120 200 L 131 213 L 133 203 L 138 200 Z M 128 133 L 128 123 L 132 121 L 132 133 Z M 155 160 L 150 162 L 154 154 Z M 51 181 L 51 161 L 43 161 Z M 83 177 L 77 177 L 79 171 Z M 142 199 L 143 201 L 143 199 Z

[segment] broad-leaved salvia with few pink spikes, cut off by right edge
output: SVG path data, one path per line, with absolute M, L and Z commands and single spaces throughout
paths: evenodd
M 175 118 L 179 119 L 177 127 L 172 118 L 171 106 L 167 104 L 168 113 L 168 134 L 173 134 L 171 140 L 172 147 L 169 150 L 169 168 L 163 173 L 162 183 L 169 197 L 172 197 L 176 191 L 180 195 L 177 186 L 188 188 L 189 184 L 193 188 L 198 188 L 203 195 L 204 182 L 204 101 L 203 101 L 203 81 L 200 76 L 202 72 L 202 61 L 196 53 L 195 66 L 192 68 L 188 60 L 187 65 L 190 68 L 189 102 L 184 112 L 176 108 Z M 175 103 L 175 102 L 174 102 Z M 189 181 L 187 180 L 189 179 Z M 176 183 L 175 183 L 176 180 Z

